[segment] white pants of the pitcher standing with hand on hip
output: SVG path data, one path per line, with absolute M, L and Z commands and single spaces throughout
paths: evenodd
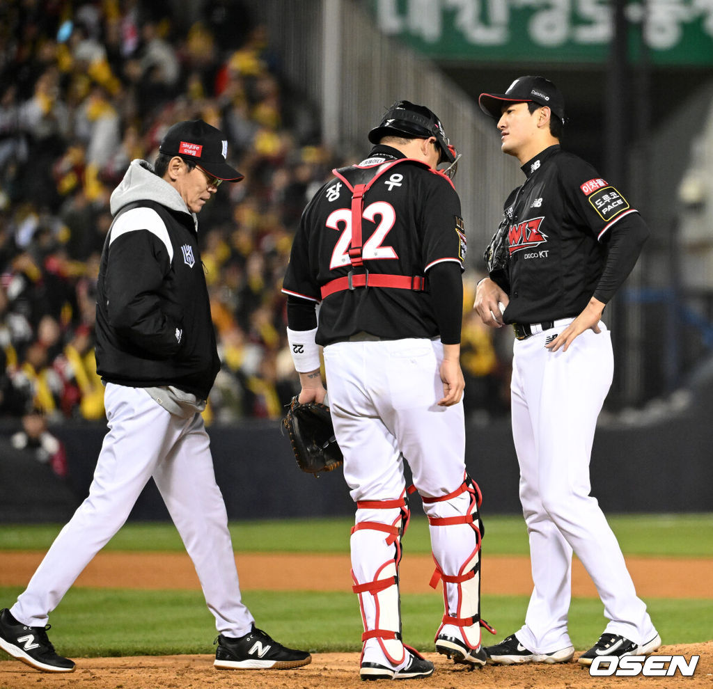
M 635 643 L 656 631 L 634 589 L 617 539 L 590 496 L 590 455 L 612 383 L 610 333 L 585 331 L 568 348 L 545 349 L 556 329 L 515 340 L 511 383 L 520 502 L 530 538 L 534 589 L 516 636 L 533 653 L 571 646 L 567 620 L 573 551 L 592 578 L 606 630 Z

